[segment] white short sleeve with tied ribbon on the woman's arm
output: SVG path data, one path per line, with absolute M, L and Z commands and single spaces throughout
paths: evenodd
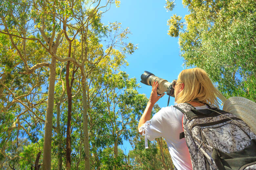
M 148 148 L 148 141 L 153 141 L 156 138 L 162 137 L 163 132 L 163 120 L 161 110 L 157 112 L 151 120 L 146 121 L 141 127 L 139 132 L 142 132 L 142 136 L 145 136 L 145 148 Z

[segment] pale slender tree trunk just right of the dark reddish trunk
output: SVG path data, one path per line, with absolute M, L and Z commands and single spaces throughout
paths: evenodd
M 82 77 L 83 90 L 83 132 L 84 132 L 84 165 L 85 170 L 90 170 L 90 147 L 89 147 L 89 133 L 88 133 L 88 114 L 87 114 L 87 94 L 85 77 Z

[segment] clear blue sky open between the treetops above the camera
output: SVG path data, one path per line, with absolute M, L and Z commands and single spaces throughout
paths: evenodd
M 129 74 L 129 77 L 135 77 L 138 83 L 144 71 L 171 82 L 185 69 L 182 67 L 183 59 L 179 55 L 178 38 L 167 35 L 167 20 L 175 13 L 183 18 L 188 11 L 183 7 L 181 0 L 176 1 L 173 11 L 166 12 L 164 6 L 165 0 L 121 0 L 119 8 L 113 5 L 102 18 L 105 25 L 108 22 L 120 22 L 124 28 L 130 28 L 132 35 L 129 35 L 129 41 L 138 44 L 139 49 L 127 57 L 129 66 L 122 68 L 122 71 Z M 144 93 L 149 98 L 151 86 L 142 83 L 140 86 L 139 93 Z M 160 107 L 166 107 L 167 101 L 168 95 L 165 95 L 158 104 Z M 174 98 L 171 97 L 169 105 L 173 103 Z M 126 153 L 132 149 L 127 141 L 123 142 L 122 147 L 126 148 Z

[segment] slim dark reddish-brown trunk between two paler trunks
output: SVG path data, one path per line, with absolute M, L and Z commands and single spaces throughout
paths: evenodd
M 67 62 L 66 67 L 66 87 L 68 95 L 68 122 L 67 122 L 67 138 L 66 138 L 66 169 L 71 169 L 71 111 L 72 111 L 72 94 L 71 86 L 69 85 L 69 65 L 70 61 Z

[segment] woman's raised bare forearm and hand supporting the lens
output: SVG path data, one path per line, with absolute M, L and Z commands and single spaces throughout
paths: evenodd
M 165 94 L 164 93 L 162 96 L 158 95 L 157 87 L 158 87 L 158 82 L 154 81 L 148 104 L 139 120 L 138 130 L 139 130 L 139 127 L 141 127 L 146 121 L 150 120 L 151 112 L 152 112 L 152 109 L 153 109 L 155 103 Z M 142 134 L 142 132 L 139 132 L 139 134 Z

